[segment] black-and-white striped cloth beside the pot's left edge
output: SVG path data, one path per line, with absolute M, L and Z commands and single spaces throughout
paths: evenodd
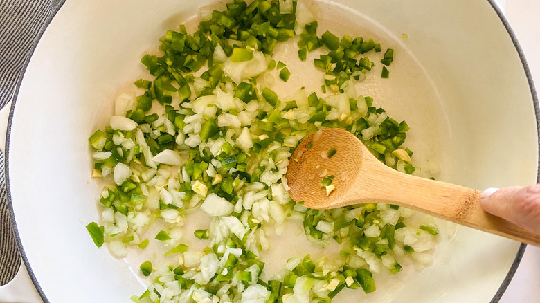
M 0 109 L 12 100 L 33 46 L 60 1 L 0 0 Z M 0 152 L 0 286 L 10 282 L 21 265 L 11 226 Z

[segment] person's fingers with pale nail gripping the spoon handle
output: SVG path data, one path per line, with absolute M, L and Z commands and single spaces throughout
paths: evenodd
M 540 184 L 489 188 L 482 193 L 480 205 L 486 212 L 540 235 Z

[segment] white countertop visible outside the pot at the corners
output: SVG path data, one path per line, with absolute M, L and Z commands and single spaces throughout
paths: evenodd
M 503 1 L 499 0 L 497 2 Z M 537 91 L 540 91 L 540 1 L 509 0 L 506 4 L 505 13 L 528 60 L 532 78 L 537 83 Z M 0 111 L 0 121 L 7 120 L 8 112 L 8 107 Z M 0 129 L 3 128 L 0 125 Z M 5 137 L 5 134 L 0 134 L 1 145 L 5 141 L 3 137 Z M 510 282 L 510 286 L 508 286 L 500 302 L 539 302 L 539 283 L 540 248 L 528 246 L 516 275 L 514 275 L 514 279 Z M 42 300 L 35 291 L 24 266 L 21 266 L 19 274 L 12 282 L 6 286 L 0 286 L 0 303 L 40 302 Z

